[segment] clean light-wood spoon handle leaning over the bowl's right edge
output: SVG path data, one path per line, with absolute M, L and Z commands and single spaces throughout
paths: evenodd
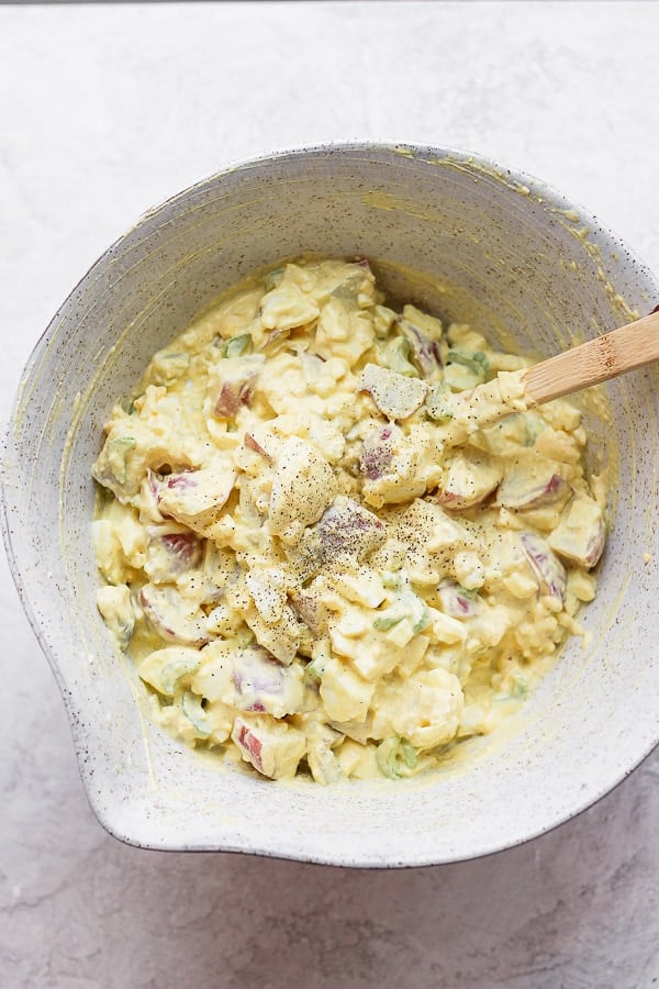
M 529 404 L 550 402 L 659 359 L 658 310 L 534 364 L 522 377 Z

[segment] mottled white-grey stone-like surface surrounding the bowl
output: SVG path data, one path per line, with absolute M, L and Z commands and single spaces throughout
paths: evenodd
M 0 8 L 2 411 L 118 234 L 265 151 L 479 151 L 659 270 L 658 51 L 651 2 Z M 139 852 L 87 805 L 3 557 L 0 612 L 1 989 L 659 982 L 657 756 L 579 819 L 479 862 L 375 873 Z

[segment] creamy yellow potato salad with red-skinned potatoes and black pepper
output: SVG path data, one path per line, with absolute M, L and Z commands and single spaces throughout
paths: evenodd
M 154 720 L 332 784 L 425 771 L 514 713 L 579 634 L 605 532 L 581 414 L 524 411 L 528 363 L 337 259 L 255 275 L 159 351 L 93 468 L 98 604 Z M 467 435 L 485 381 L 507 414 Z

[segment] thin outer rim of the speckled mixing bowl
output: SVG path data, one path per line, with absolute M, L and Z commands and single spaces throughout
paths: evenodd
M 18 411 L 18 404 L 20 401 L 21 393 L 30 380 L 31 373 L 33 366 L 36 364 L 36 359 L 40 354 L 47 347 L 52 336 L 54 335 L 55 329 L 59 323 L 59 318 L 63 310 L 68 304 L 69 300 L 72 296 L 81 288 L 83 285 L 93 277 L 97 270 L 105 263 L 105 260 L 111 256 L 121 245 L 122 243 L 132 234 L 136 233 L 139 227 L 142 227 L 146 222 L 157 219 L 158 214 L 164 212 L 167 209 L 176 209 L 178 204 L 183 203 L 191 195 L 196 192 L 203 191 L 212 182 L 215 182 L 222 179 L 225 176 L 234 175 L 236 173 L 245 173 L 249 171 L 254 168 L 263 168 L 267 167 L 269 164 L 283 163 L 286 160 L 297 160 L 303 159 L 309 156 L 319 156 L 326 157 L 328 155 L 339 155 L 350 157 L 358 154 L 400 154 L 401 157 L 410 158 L 415 162 L 429 164 L 432 159 L 437 158 L 446 158 L 451 163 L 461 164 L 465 166 L 477 166 L 481 168 L 484 175 L 491 175 L 511 186 L 522 186 L 530 188 L 534 195 L 541 196 L 541 200 L 544 203 L 547 203 L 550 208 L 554 208 L 557 211 L 566 211 L 566 210 L 574 210 L 579 214 L 579 221 L 585 224 L 591 232 L 591 236 L 594 240 L 597 246 L 605 245 L 608 248 L 615 248 L 617 252 L 623 253 L 629 263 L 632 263 L 636 278 L 638 281 L 643 282 L 648 289 L 652 290 L 656 293 L 656 297 L 659 299 L 659 278 L 655 276 L 648 264 L 645 259 L 639 256 L 639 254 L 629 247 L 629 245 L 619 237 L 611 227 L 608 227 L 605 223 L 600 221 L 597 216 L 591 213 L 588 209 L 581 205 L 580 202 L 568 198 L 563 192 L 558 190 L 556 187 L 546 182 L 545 180 L 536 177 L 535 175 L 523 171 L 516 168 L 510 168 L 505 165 L 502 165 L 498 159 L 491 158 L 487 155 L 483 155 L 479 152 L 469 152 L 465 149 L 459 149 L 453 147 L 450 145 L 426 145 L 426 144 L 416 144 L 409 142 L 400 142 L 400 141 L 338 141 L 338 142 L 327 142 L 327 143 L 314 143 L 309 145 L 299 145 L 292 148 L 277 149 L 272 152 L 265 152 L 259 155 L 249 156 L 247 158 L 241 158 L 236 160 L 228 162 L 223 168 L 217 171 L 214 171 L 205 177 L 194 181 L 192 185 L 186 187 L 182 190 L 175 192 L 171 196 L 166 197 L 165 199 L 157 202 L 155 205 L 147 208 L 121 234 L 119 234 L 115 240 L 97 257 L 97 259 L 89 266 L 89 268 L 82 274 L 82 276 L 78 279 L 75 286 L 69 290 L 66 298 L 58 305 L 55 311 L 53 318 L 47 323 L 46 327 L 37 337 L 34 346 L 32 347 L 30 355 L 27 356 L 23 368 L 20 374 L 19 382 L 14 388 L 13 399 L 9 403 L 9 412 L 7 421 L 2 429 L 2 435 L 0 437 L 0 502 L 1 502 L 1 511 L 0 511 L 0 529 L 2 531 L 3 544 L 7 553 L 7 558 L 9 562 L 10 573 L 16 588 L 16 592 L 19 599 L 21 601 L 23 611 L 30 622 L 32 631 L 41 646 L 42 652 L 46 656 L 55 681 L 59 688 L 59 692 L 66 709 L 67 719 L 69 722 L 69 730 L 72 736 L 74 749 L 76 754 L 76 762 L 78 765 L 78 771 L 80 774 L 80 778 L 83 784 L 85 792 L 87 799 L 91 805 L 91 809 L 97 816 L 100 824 L 104 827 L 104 830 L 111 834 L 113 837 L 119 841 L 132 845 L 134 847 L 139 848 L 153 848 L 159 851 L 204 851 L 204 852 L 231 852 L 231 853 L 242 853 L 242 854 L 254 854 L 261 855 L 265 857 L 273 857 L 273 858 L 282 858 L 290 859 L 295 862 L 308 862 L 315 863 L 319 865 L 335 865 L 342 867 L 354 867 L 354 868 L 411 868 L 411 867 L 424 867 L 431 865 L 439 865 L 439 864 L 448 864 L 451 862 L 467 862 L 476 858 L 482 858 L 490 855 L 495 855 L 501 852 L 506 851 L 507 848 L 514 848 L 518 845 L 525 844 L 528 841 L 533 841 L 539 837 L 543 834 L 547 834 L 548 832 L 554 831 L 557 827 L 560 827 L 562 824 L 568 823 L 573 818 L 583 813 L 589 808 L 596 804 L 600 800 L 602 800 L 605 796 L 613 792 L 632 773 L 634 773 L 644 762 L 648 758 L 648 756 L 654 752 L 654 749 L 659 745 L 659 723 L 656 726 L 655 735 L 650 738 L 649 743 L 645 745 L 643 751 L 636 753 L 630 762 L 627 763 L 625 768 L 622 768 L 616 771 L 615 776 L 611 777 L 606 784 L 599 785 L 589 791 L 588 796 L 582 798 L 579 801 L 574 801 L 573 805 L 569 810 L 562 810 L 560 812 L 555 812 L 552 818 L 543 826 L 535 827 L 528 833 L 511 838 L 510 841 L 498 841 L 491 844 L 491 847 L 487 847 L 482 851 L 479 851 L 474 854 L 449 854 L 449 855 L 420 855 L 415 856 L 414 853 L 407 854 L 403 856 L 399 860 L 387 860 L 382 862 L 375 855 L 361 854 L 360 852 L 353 852 L 350 856 L 347 856 L 343 853 L 335 854 L 312 854 L 305 853 L 303 849 L 300 851 L 291 851 L 287 848 L 273 848 L 270 843 L 267 847 L 260 847 L 258 843 L 253 841 L 246 841 L 242 844 L 239 843 L 231 843 L 231 842 L 216 842 L 213 844 L 202 844 L 202 843 L 193 843 L 187 844 L 185 842 L 158 842 L 157 840 L 143 841 L 141 837 L 135 835 L 131 835 L 126 833 L 120 825 L 119 822 L 112 820 L 112 813 L 110 809 L 110 804 L 107 807 L 101 805 L 100 801 L 97 799 L 96 791 L 92 790 L 90 786 L 90 779 L 86 776 L 82 769 L 82 747 L 83 741 L 77 735 L 75 731 L 75 721 L 72 716 L 72 707 L 71 699 L 66 689 L 66 680 L 62 674 L 62 669 L 59 667 L 59 663 L 57 659 L 57 648 L 49 641 L 49 637 L 44 633 L 44 630 L 41 626 L 41 623 L 36 616 L 36 611 L 34 608 L 33 600 L 30 596 L 30 592 L 25 586 L 23 574 L 21 571 L 21 565 L 19 563 L 19 558 L 16 556 L 16 547 L 14 545 L 14 541 L 12 540 L 12 523 L 16 521 L 16 512 L 15 509 L 10 508 L 10 500 L 7 497 L 8 493 L 8 455 L 12 445 L 12 435 L 13 429 L 15 425 L 15 414 Z

